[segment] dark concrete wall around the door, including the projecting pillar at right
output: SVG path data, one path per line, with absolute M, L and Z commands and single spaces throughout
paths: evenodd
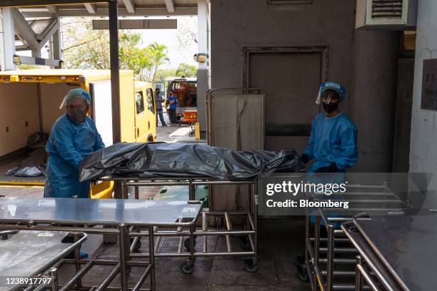
M 245 47 L 328 46 L 327 78 L 346 87 L 342 109 L 358 127 L 353 170 L 391 170 L 398 33 L 356 31 L 352 0 L 266 3 L 211 0 L 211 88 L 243 86 Z

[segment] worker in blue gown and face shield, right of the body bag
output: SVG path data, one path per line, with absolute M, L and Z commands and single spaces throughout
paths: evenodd
M 321 83 L 316 103 L 325 112 L 319 113 L 311 123 L 308 147 L 301 160 L 315 159 L 309 173 L 338 173 L 352 167 L 358 160 L 357 130 L 351 119 L 338 109 L 345 90 L 336 83 Z

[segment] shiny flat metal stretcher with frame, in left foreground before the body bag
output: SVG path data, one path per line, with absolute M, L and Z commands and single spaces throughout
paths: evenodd
M 60 290 L 94 288 L 112 290 L 109 284 L 120 274 L 120 288 L 141 289 L 150 276 L 150 290 L 155 290 L 154 227 L 191 227 L 199 218 L 200 201 L 119 200 L 119 199 L 14 199 L 0 198 L 0 230 L 49 230 L 118 235 L 119 260 L 82 260 L 76 252 L 74 260 L 62 260 L 76 265 L 76 274 Z M 104 225 L 116 228 L 94 228 Z M 146 234 L 133 235 L 132 227 L 148 228 Z M 131 260 L 128 240 L 134 236 L 149 236 L 149 261 Z M 114 269 L 99 286 L 83 286 L 84 277 L 94 265 L 112 265 Z M 144 273 L 134 288 L 128 288 L 127 273 L 131 267 L 144 267 Z M 1 275 L 1 274 L 0 274 Z

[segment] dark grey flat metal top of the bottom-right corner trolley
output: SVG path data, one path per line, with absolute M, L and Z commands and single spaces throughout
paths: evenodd
M 378 258 L 408 290 L 437 290 L 437 217 L 375 216 L 355 223 Z

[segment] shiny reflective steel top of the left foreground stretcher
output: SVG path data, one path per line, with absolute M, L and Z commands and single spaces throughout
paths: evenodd
M 200 201 L 0 198 L 0 223 L 175 225 L 179 218 L 193 219 L 200 211 Z

